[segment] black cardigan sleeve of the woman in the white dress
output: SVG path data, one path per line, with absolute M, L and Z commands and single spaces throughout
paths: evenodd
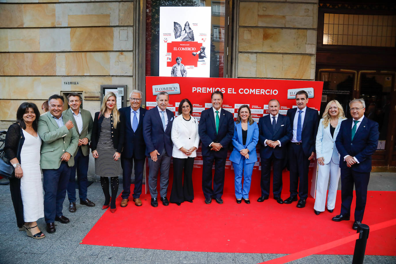
M 21 139 L 21 144 L 19 144 L 18 150 L 19 139 Z M 19 123 L 10 125 L 6 133 L 6 141 L 4 142 L 4 151 L 9 160 L 17 158 L 19 163 L 21 163 L 21 154 L 17 156 L 17 153 L 21 153 L 23 142 L 25 142 L 25 136 Z

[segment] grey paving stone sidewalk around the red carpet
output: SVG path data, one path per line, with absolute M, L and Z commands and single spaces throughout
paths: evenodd
M 370 190 L 396 191 L 396 173 L 371 173 Z M 122 191 L 122 185 L 119 192 Z M 248 254 L 167 251 L 127 247 L 106 247 L 81 245 L 93 225 L 105 212 L 101 210 L 103 192 L 98 182 L 88 187 L 88 198 L 95 207 L 86 207 L 77 203 L 77 211 L 69 213 L 67 198 L 63 204 L 69 224 L 56 222 L 56 232 L 45 232 L 44 218 L 38 220 L 38 226 L 46 233 L 44 239 L 32 239 L 25 232 L 18 231 L 15 213 L 8 185 L 0 186 L 0 263 L 204 263 L 204 264 L 256 264 L 284 256 L 282 254 Z M 109 236 L 109 234 L 103 234 Z M 133 237 L 131 237 L 133 239 Z M 297 243 L 297 242 L 296 242 Z M 139 243 L 137 242 L 137 247 Z M 312 255 L 290 262 L 293 264 L 348 264 L 351 255 Z M 365 256 L 365 264 L 395 264 L 395 256 Z

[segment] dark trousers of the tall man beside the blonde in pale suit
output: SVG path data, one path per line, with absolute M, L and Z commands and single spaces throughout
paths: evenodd
M 289 144 L 290 196 L 308 198 L 309 157 L 304 155 L 303 145 Z M 298 192 L 297 192 L 298 188 Z

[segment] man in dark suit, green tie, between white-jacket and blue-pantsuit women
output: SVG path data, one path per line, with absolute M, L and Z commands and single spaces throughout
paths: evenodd
M 202 141 L 202 190 L 205 203 L 212 202 L 212 197 L 219 204 L 223 203 L 221 196 L 224 188 L 225 161 L 227 159 L 228 145 L 234 135 L 234 117 L 223 108 L 223 93 L 215 91 L 211 95 L 213 107 L 202 111 L 198 126 L 198 133 Z M 212 166 L 215 162 L 215 175 Z

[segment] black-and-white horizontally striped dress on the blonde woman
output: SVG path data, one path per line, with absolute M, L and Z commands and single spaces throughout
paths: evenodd
M 120 175 L 121 159 L 114 160 L 116 149 L 111 139 L 111 118 L 103 117 L 96 151 L 99 158 L 95 159 L 95 174 L 103 177 L 116 177 Z

